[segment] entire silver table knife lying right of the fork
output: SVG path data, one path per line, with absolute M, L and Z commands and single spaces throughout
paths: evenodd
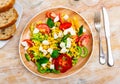
M 105 28 L 105 37 L 107 42 L 107 63 L 109 66 L 113 66 L 113 56 L 112 56 L 112 50 L 111 50 L 111 43 L 110 43 L 110 24 L 109 24 L 109 16 L 108 12 L 105 7 L 102 8 L 103 13 L 103 22 L 104 22 L 104 28 Z

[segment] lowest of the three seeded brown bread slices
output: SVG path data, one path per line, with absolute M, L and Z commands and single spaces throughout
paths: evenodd
M 10 27 L 0 29 L 0 40 L 7 40 L 12 37 L 16 31 L 16 25 L 13 24 Z

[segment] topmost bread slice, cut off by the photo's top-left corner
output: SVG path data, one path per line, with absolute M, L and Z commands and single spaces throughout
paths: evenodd
M 4 12 L 13 7 L 15 0 L 0 0 L 0 12 Z

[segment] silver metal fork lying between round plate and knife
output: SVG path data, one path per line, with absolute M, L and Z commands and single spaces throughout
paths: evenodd
M 100 35 L 100 28 L 101 28 L 101 17 L 100 17 L 100 11 L 95 13 L 94 16 L 94 25 L 95 25 L 95 29 L 99 34 L 99 62 L 100 64 L 105 64 L 106 59 L 105 59 L 105 54 L 103 52 L 103 48 L 102 48 L 102 43 L 101 43 L 101 35 Z

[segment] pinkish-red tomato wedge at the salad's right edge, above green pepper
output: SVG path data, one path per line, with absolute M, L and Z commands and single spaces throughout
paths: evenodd
M 78 45 L 79 46 L 85 46 L 89 42 L 90 36 L 85 34 L 79 37 Z

